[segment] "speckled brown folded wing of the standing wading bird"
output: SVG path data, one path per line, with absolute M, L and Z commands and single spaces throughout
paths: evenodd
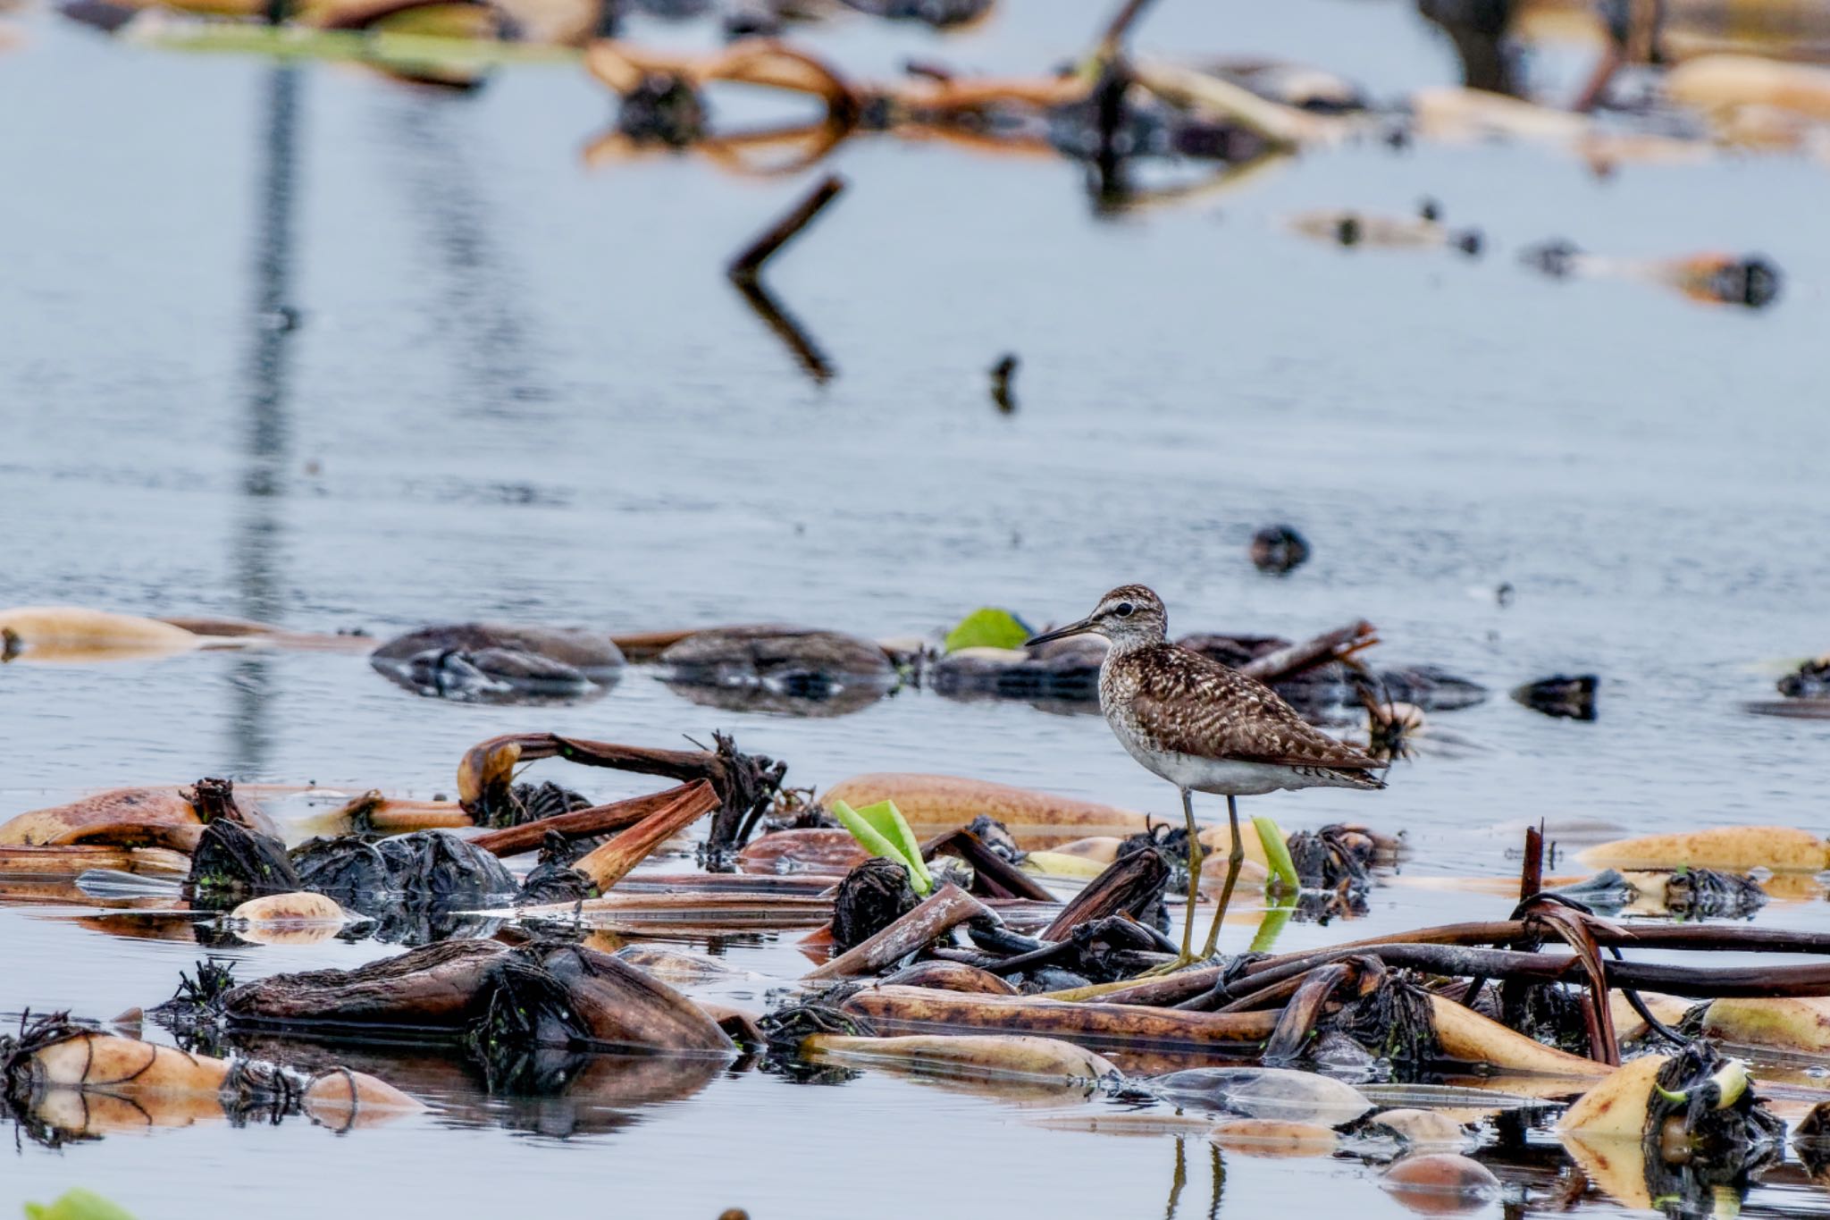
M 1378 770 L 1380 763 L 1310 726 L 1257 679 L 1160 644 L 1127 658 L 1131 710 L 1164 750 L 1204 759 Z

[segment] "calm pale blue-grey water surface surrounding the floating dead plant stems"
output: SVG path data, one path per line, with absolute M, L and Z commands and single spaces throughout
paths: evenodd
M 1083 48 L 1107 5 L 1003 9 L 955 38 L 858 20 L 807 42 L 860 75 L 911 53 L 1036 70 Z M 1385 99 L 1459 79 L 1448 42 L 1398 4 L 1158 9 L 1147 49 L 1307 59 Z M 1599 179 L 1552 148 L 1367 141 L 1111 219 L 1065 161 L 860 139 L 831 161 L 847 194 L 770 269 L 836 366 L 822 386 L 721 274 L 805 183 L 699 159 L 587 170 L 613 106 L 582 71 L 505 71 L 456 97 L 137 49 L 42 11 L 0 20 L 22 35 L 0 51 L 0 604 L 377 637 L 461 618 L 886 637 L 981 604 L 1060 622 L 1142 580 L 1175 629 L 1303 637 L 1365 616 L 1387 662 L 1495 690 L 1437 717 L 1453 741 L 1426 741 L 1378 797 L 1248 805 L 1285 827 L 1402 829 L 1409 874 L 1515 872 L 1506 852 L 1537 818 L 1565 841 L 1825 821 L 1830 724 L 1740 710 L 1771 693 L 1762 662 L 1830 646 L 1823 166 Z M 1556 57 L 1532 70 L 1570 75 Z M 1488 256 L 1341 252 L 1281 225 L 1424 196 L 1480 227 Z M 1784 294 L 1753 315 L 1517 267 L 1519 247 L 1556 236 L 1634 256 L 1760 251 Z M 296 329 L 265 320 L 278 305 Z M 986 397 L 1003 351 L 1023 359 L 1012 417 Z M 1316 547 L 1283 580 L 1244 558 L 1276 519 Z M 1517 589 L 1504 609 L 1501 582 Z M 1599 721 L 1504 699 L 1556 671 L 1601 675 Z M 430 796 L 467 744 L 549 728 L 644 744 L 725 728 L 803 785 L 944 770 L 1173 812 L 1096 717 L 1021 704 L 902 691 L 798 721 L 697 706 L 635 671 L 597 702 L 485 710 L 414 699 L 359 657 L 192 655 L 0 673 L 0 814 L 201 774 Z M 1360 927 L 1508 902 L 1387 885 L 1372 907 Z M 108 1017 L 170 995 L 198 957 L 71 915 L 0 913 L 0 1011 Z M 1823 904 L 1762 920 L 1830 926 Z M 1338 936 L 1297 926 L 1279 947 Z M 236 957 L 253 977 L 384 951 Z M 803 960 L 727 951 L 778 977 Z M 1043 1129 L 996 1096 L 878 1074 L 811 1088 L 684 1072 L 651 1099 L 580 1099 L 576 1123 L 432 1092 L 430 1116 L 342 1140 L 287 1123 L 24 1143 L 0 1209 L 81 1183 L 141 1216 L 428 1198 L 450 1215 L 855 1216 L 931 1198 L 959 1215 L 1202 1216 L 1219 1189 L 1200 1138 L 1171 1205 L 1169 1136 Z M 1224 1156 L 1219 1215 L 1349 1198 L 1402 1215 L 1356 1161 Z M 1748 1205 L 1825 1202 L 1771 1185 Z

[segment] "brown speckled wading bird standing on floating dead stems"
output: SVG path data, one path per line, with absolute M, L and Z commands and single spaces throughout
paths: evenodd
M 1098 609 L 1030 644 L 1071 635 L 1103 635 L 1111 651 L 1100 664 L 1100 712 L 1120 744 L 1138 763 L 1182 794 L 1188 819 L 1188 916 L 1182 953 L 1168 969 L 1197 960 L 1190 953 L 1195 893 L 1200 883 L 1200 840 L 1191 792 L 1226 797 L 1233 851 L 1221 887 L 1202 958 L 1213 957 L 1221 918 L 1233 896 L 1244 847 L 1235 797 L 1279 788 L 1383 788 L 1380 763 L 1310 726 L 1274 690 L 1200 653 L 1169 642 L 1162 598 L 1144 585 L 1120 585 Z

